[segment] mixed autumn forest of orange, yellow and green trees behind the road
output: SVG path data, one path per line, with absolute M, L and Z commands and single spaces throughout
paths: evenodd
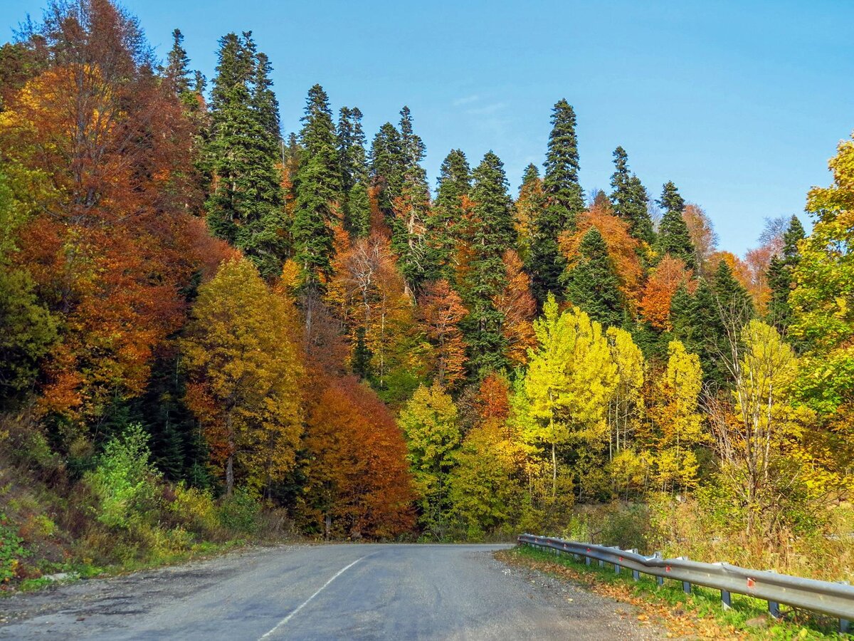
M 259 46 L 79 0 L 0 48 L 0 585 L 519 532 L 850 576 L 854 139 L 740 257 L 622 147 L 582 189 L 571 100 L 434 182 L 406 106 L 283 132 Z

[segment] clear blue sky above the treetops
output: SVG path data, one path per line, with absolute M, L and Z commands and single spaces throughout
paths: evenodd
M 41 15 L 0 6 L 0 24 Z M 371 138 L 404 104 L 431 181 L 448 150 L 505 162 L 515 192 L 541 165 L 550 109 L 578 117 L 585 190 L 608 189 L 611 153 L 658 196 L 672 179 L 711 216 L 722 249 L 756 244 L 766 216 L 801 213 L 854 129 L 854 3 L 273 2 L 126 0 L 159 55 L 178 26 L 210 78 L 216 41 L 252 30 L 270 56 L 285 131 L 308 87 L 357 106 Z

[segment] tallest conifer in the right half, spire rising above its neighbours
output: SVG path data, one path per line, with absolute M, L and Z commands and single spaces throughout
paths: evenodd
M 550 291 L 557 297 L 563 293 L 559 280 L 566 260 L 560 252 L 558 238 L 561 232 L 574 226 L 576 216 L 584 209 L 582 188 L 578 183 L 576 115 L 566 100 L 560 100 L 552 111 L 545 167 L 546 206 L 534 221 L 528 260 L 534 295 L 540 303 Z

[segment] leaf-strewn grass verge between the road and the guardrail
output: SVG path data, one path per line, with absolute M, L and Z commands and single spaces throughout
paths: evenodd
M 632 579 L 623 569 L 617 574 L 613 567 L 599 567 L 597 562 L 586 565 L 571 555 L 556 556 L 552 552 L 529 546 L 498 553 L 501 560 L 541 570 L 559 579 L 581 583 L 588 589 L 617 600 L 633 603 L 640 609 L 640 621 L 655 621 L 666 627 L 669 637 L 694 636 L 705 638 L 773 638 L 773 639 L 837 639 L 854 638 L 840 634 L 839 621 L 781 606 L 780 620 L 768 615 L 768 604 L 744 595 L 732 595 L 732 608 L 723 609 L 720 592 L 693 586 L 691 594 L 682 591 L 681 582 L 665 580 L 658 586 L 654 577 L 641 574 Z

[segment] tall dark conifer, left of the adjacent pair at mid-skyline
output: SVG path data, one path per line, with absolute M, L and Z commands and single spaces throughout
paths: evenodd
M 451 150 L 439 170 L 436 202 L 427 217 L 424 235 L 427 244 L 426 278 L 454 282 L 453 256 L 459 244 L 459 224 L 463 219 L 463 197 L 471 190 L 471 168 L 462 150 Z

